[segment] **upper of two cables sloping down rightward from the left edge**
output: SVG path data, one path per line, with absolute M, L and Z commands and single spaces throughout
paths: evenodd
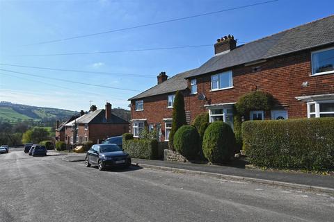
M 14 64 L 6 64 L 0 63 L 0 65 L 10 66 L 10 67 L 22 67 L 22 68 L 31 68 L 31 69 L 45 69 L 45 70 L 53 70 L 53 71 L 69 71 L 69 72 L 78 72 L 85 74 L 103 74 L 103 75 L 115 75 L 115 76 L 132 76 L 132 77 L 141 77 L 141 78 L 152 78 L 157 77 L 157 75 L 143 75 L 143 74 L 121 74 L 121 73 L 111 73 L 104 71 L 86 71 L 86 70 L 77 70 L 77 69 L 58 69 L 58 68 L 50 68 L 50 67 L 31 67 L 26 65 L 14 65 Z

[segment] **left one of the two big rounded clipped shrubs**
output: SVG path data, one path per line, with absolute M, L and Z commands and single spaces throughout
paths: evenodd
M 181 126 L 174 135 L 174 148 L 184 157 L 191 160 L 200 151 L 200 137 L 194 126 Z

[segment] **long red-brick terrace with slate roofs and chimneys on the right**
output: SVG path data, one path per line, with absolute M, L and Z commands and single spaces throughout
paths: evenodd
M 253 110 L 245 119 L 334 117 L 334 16 L 237 46 L 231 35 L 218 39 L 214 56 L 197 69 L 131 99 L 132 133 L 157 128 L 168 141 L 175 92 L 184 94 L 187 121 L 208 112 L 210 121 L 233 126 L 233 106 L 254 90 L 269 92 L 273 110 Z

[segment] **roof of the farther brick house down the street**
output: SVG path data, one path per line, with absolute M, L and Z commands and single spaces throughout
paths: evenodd
M 120 117 L 117 117 L 114 114 L 111 114 L 110 121 L 106 121 L 105 110 L 95 110 L 94 112 L 88 112 L 87 114 L 84 114 L 83 116 L 78 117 L 73 121 L 70 121 L 69 123 L 65 124 L 65 126 L 73 126 L 74 123 L 88 124 L 88 123 L 128 123 L 128 122 L 125 121 L 124 119 L 121 119 Z

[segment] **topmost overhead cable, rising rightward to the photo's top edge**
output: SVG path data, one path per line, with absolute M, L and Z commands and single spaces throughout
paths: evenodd
M 34 44 L 27 44 L 25 46 L 33 46 L 33 45 L 38 45 L 38 44 L 48 44 L 48 43 L 52 43 L 52 42 L 62 42 L 62 41 L 67 41 L 67 40 L 79 39 L 79 38 L 83 38 L 83 37 L 91 37 L 91 36 L 95 36 L 95 35 L 104 35 L 104 34 L 107 34 L 107 33 L 116 33 L 116 32 L 120 32 L 120 31 L 126 31 L 126 30 L 130 30 L 130 29 L 134 29 L 134 28 L 142 28 L 142 27 L 146 27 L 146 26 L 155 26 L 155 25 L 158 25 L 158 24 L 165 24 L 165 23 L 169 23 L 169 22 L 177 22 L 177 21 L 186 20 L 186 19 L 193 19 L 193 18 L 196 18 L 196 17 L 214 15 L 214 14 L 218 14 L 218 13 L 221 13 L 221 12 L 227 12 L 227 11 L 231 11 L 231 10 L 238 10 L 238 9 L 241 9 L 241 8 L 250 8 L 250 7 L 253 7 L 253 6 L 260 6 L 260 5 L 267 4 L 267 3 L 273 3 L 275 1 L 279 1 L 279 0 L 262 1 L 262 2 L 259 2 L 259 3 L 249 4 L 249 5 L 246 5 L 246 6 L 226 8 L 226 9 L 218 10 L 218 11 L 214 11 L 214 12 L 206 12 L 206 13 L 202 13 L 202 14 L 191 15 L 191 16 L 187 16 L 187 17 L 179 17 L 179 18 L 175 18 L 175 19 L 168 19 L 168 20 L 164 20 L 164 21 L 161 21 L 161 22 L 152 22 L 152 23 L 148 23 L 148 24 L 141 24 L 141 25 L 138 25 L 138 26 L 131 26 L 131 27 L 127 27 L 127 28 L 118 28 L 118 29 L 113 29 L 113 30 L 109 30 L 109 31 L 100 32 L 100 33 L 90 33 L 90 34 L 86 34 L 86 35 L 77 35 L 77 36 L 73 36 L 73 37 L 65 37 L 65 38 L 57 39 L 57 40 L 49 40 L 49 41 L 45 41 L 45 42 L 36 42 Z

